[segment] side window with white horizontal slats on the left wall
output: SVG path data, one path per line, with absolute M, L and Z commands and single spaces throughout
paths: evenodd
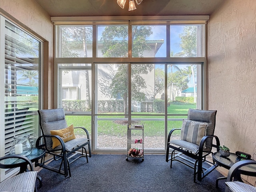
M 30 135 L 35 144 L 39 135 L 38 115 L 40 96 L 40 47 L 41 42 L 34 36 L 24 32 L 4 17 L 0 27 L 0 154 L 9 153 L 14 136 Z M 1 170 L 1 180 L 12 171 Z

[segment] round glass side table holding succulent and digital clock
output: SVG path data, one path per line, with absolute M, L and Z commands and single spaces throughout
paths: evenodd
M 234 165 L 236 162 L 244 160 L 241 157 L 238 157 L 235 153 L 230 153 L 230 156 L 223 157 L 220 155 L 220 152 L 215 152 L 212 154 L 212 160 L 218 164 L 218 166 L 224 167 L 226 169 L 230 169 L 232 165 Z M 255 176 L 256 172 L 256 165 L 246 165 L 242 166 L 239 169 L 239 174 L 248 175 L 248 176 Z M 227 179 L 227 177 L 220 177 L 216 180 L 216 188 L 218 188 L 218 182 L 219 180 Z M 242 181 L 242 178 L 239 179 Z

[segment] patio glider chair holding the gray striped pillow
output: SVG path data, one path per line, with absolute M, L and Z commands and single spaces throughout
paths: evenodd
M 182 128 L 175 128 L 169 132 L 166 150 L 166 162 L 178 161 L 194 169 L 194 182 L 202 181 L 206 175 L 216 168 L 214 162 L 209 162 L 206 156 L 212 153 L 212 147 L 219 151 L 220 140 L 214 136 L 216 110 L 188 110 L 188 120 L 183 120 Z M 172 133 L 181 130 L 180 140 L 171 140 Z M 216 144 L 213 144 L 213 138 Z M 171 155 L 169 150 L 172 149 Z M 170 157 L 169 157 L 170 156 Z M 212 164 L 210 168 L 203 166 L 203 162 Z

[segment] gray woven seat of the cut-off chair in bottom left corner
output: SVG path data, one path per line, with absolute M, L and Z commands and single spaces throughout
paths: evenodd
M 28 171 L 0 183 L 0 191 L 34 192 L 37 171 Z

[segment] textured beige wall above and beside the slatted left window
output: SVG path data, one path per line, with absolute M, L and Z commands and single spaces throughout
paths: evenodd
M 43 107 L 50 108 L 54 34 L 50 16 L 35 0 L 0 0 L 0 13 L 44 41 Z

